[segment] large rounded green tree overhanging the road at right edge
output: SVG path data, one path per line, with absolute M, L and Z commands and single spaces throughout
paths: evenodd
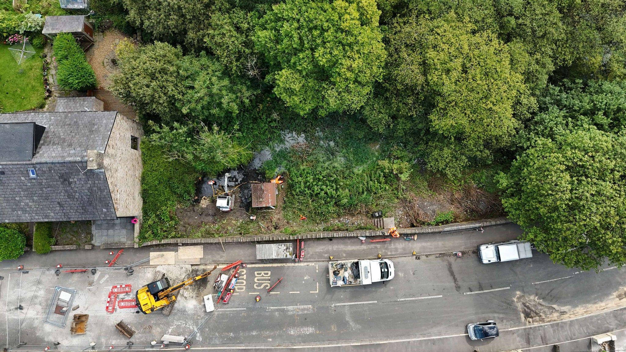
M 498 177 L 521 236 L 583 270 L 626 262 L 626 135 L 593 127 L 541 138 Z

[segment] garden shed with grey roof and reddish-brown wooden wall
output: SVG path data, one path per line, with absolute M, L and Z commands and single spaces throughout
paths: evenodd
M 93 26 L 83 15 L 46 16 L 41 33 L 50 39 L 59 33 L 71 33 L 85 50 L 93 44 Z

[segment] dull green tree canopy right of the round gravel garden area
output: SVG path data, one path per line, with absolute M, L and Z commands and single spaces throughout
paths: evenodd
M 188 115 L 213 123 L 249 103 L 247 84 L 228 78 L 205 53 L 183 56 L 182 49 L 160 42 L 138 48 L 125 44 L 117 51 L 121 73 L 113 76 L 111 90 L 156 120 L 173 122 Z

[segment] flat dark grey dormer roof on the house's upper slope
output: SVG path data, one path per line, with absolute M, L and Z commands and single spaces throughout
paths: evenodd
M 0 123 L 0 162 L 26 162 L 33 158 L 34 123 Z

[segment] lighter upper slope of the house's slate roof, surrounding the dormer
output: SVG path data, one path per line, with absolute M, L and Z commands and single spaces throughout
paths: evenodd
M 87 150 L 105 152 L 117 111 L 0 114 L 0 123 L 34 122 L 46 127 L 33 162 L 84 160 Z

